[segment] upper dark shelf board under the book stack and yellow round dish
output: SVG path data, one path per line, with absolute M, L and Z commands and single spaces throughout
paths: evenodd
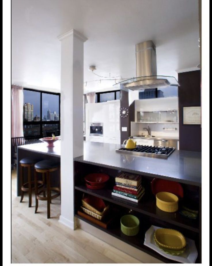
M 168 222 L 169 224 L 174 224 L 181 228 L 185 228 L 195 233 L 199 233 L 199 224 L 197 220 L 190 220 L 183 217 L 180 213 L 167 213 L 161 211 L 156 207 L 156 201 L 152 198 L 148 198 L 146 195 L 143 196 L 140 202 L 129 202 L 128 200 L 118 198 L 116 196 L 111 195 L 111 190 L 109 189 L 88 189 L 85 185 L 75 186 L 76 190 L 82 191 L 84 193 L 99 197 L 108 202 L 120 205 L 122 207 L 126 207 L 128 209 L 132 209 L 133 211 L 137 211 L 149 217 L 153 217 L 158 220 L 162 220 L 164 222 Z

